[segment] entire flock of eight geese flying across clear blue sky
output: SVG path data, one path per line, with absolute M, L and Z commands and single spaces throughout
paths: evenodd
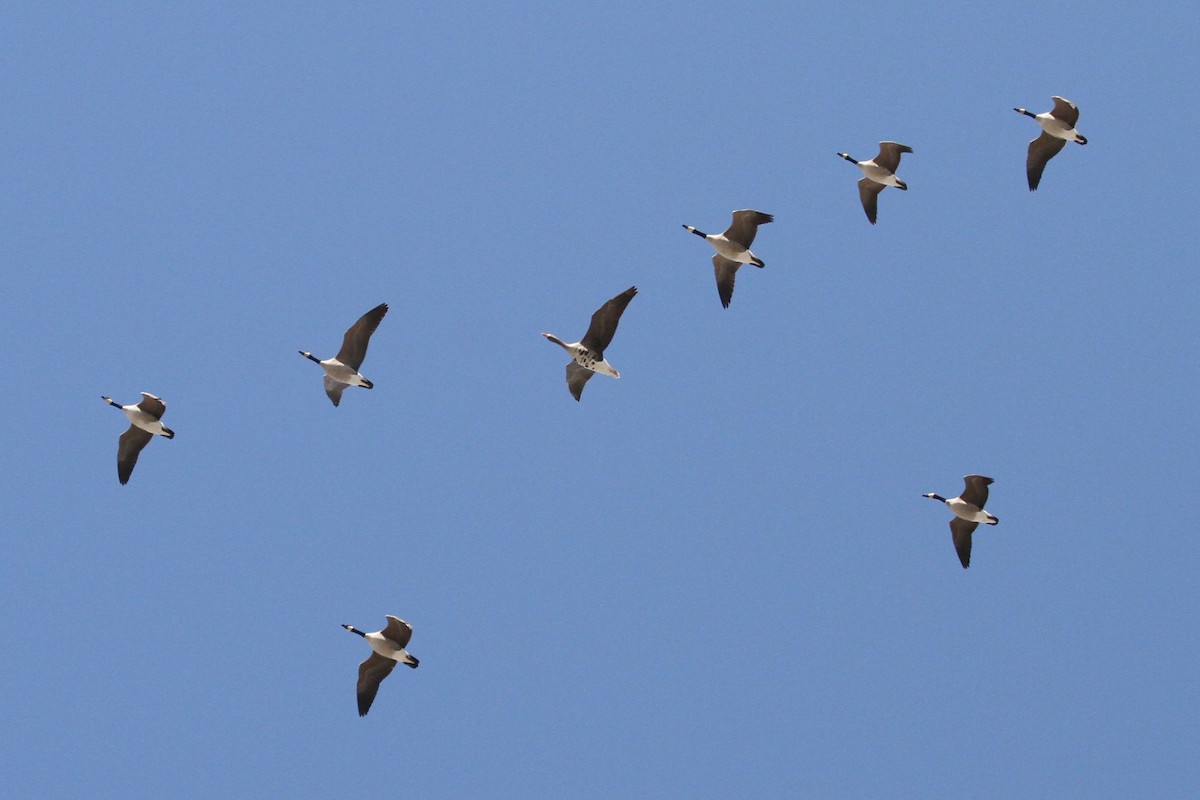
M 1046 163 L 1058 155 L 1068 142 L 1087 144 L 1087 139 L 1075 130 L 1075 124 L 1079 121 L 1079 108 L 1063 97 L 1055 96 L 1051 100 L 1054 100 L 1054 108 L 1042 114 L 1034 114 L 1024 108 L 1013 109 L 1019 114 L 1033 118 L 1042 127 L 1042 133 L 1030 142 L 1025 161 L 1025 173 L 1031 192 L 1038 188 Z M 858 181 L 858 196 L 863 203 L 863 211 L 866 212 L 866 218 L 871 224 L 876 222 L 878 198 L 884 188 L 888 186 L 901 191 L 908 188 L 907 184 L 896 176 L 900 156 L 906 152 L 912 152 L 912 148 L 898 142 L 881 142 L 878 155 L 870 161 L 857 161 L 846 152 L 838 154 L 840 158 L 845 158 L 863 172 L 863 178 Z M 716 276 L 716 294 L 725 308 L 728 308 L 730 301 L 733 299 L 733 282 L 738 269 L 743 264 L 764 266 L 763 260 L 754 254 L 750 246 L 754 245 L 758 225 L 764 225 L 774 219 L 775 217 L 769 213 L 743 209 L 733 212 L 733 221 L 725 233 L 706 234 L 692 225 L 684 225 L 690 233 L 708 241 L 716 251 L 716 254 L 713 255 L 713 270 Z M 564 342 L 553 333 L 542 333 L 571 356 L 571 361 L 566 365 L 566 387 L 576 401 L 582 398 L 583 387 L 592 375 L 600 373 L 611 378 L 620 378 L 620 373 L 605 359 L 604 351 L 612 343 L 620 317 L 636 294 L 637 287 L 630 287 L 600 306 L 592 314 L 588 331 L 578 342 Z M 331 359 L 322 360 L 307 350 L 300 350 L 300 355 L 317 362 L 324 371 L 325 395 L 335 407 L 342 402 L 342 392 L 347 386 L 374 387 L 374 384 L 365 378 L 359 369 L 366 359 L 371 335 L 376 332 L 386 314 L 388 303 L 379 303 L 362 314 L 356 323 L 347 329 L 342 337 L 342 349 Z M 142 402 L 132 405 L 121 405 L 108 396 L 104 396 L 103 401 L 122 410 L 130 420 L 130 427 L 121 434 L 116 449 L 116 476 L 121 485 L 125 485 L 133 474 L 133 467 L 138 463 L 138 455 L 143 447 L 155 435 L 173 439 L 175 433 L 162 423 L 167 403 L 161 397 L 142 392 Z M 996 525 L 1000 519 L 984 511 L 984 504 L 988 503 L 988 487 L 994 482 L 992 479 L 984 475 L 967 475 L 962 481 L 962 493 L 956 498 L 947 499 L 932 492 L 923 497 L 941 500 L 954 513 L 954 518 L 950 519 L 950 535 L 959 561 L 966 569 L 971 565 L 971 535 L 976 528 L 980 523 Z M 400 618 L 388 615 L 388 625 L 382 631 L 373 633 L 364 633 L 352 625 L 342 625 L 342 627 L 352 633 L 358 633 L 371 646 L 371 655 L 359 664 L 358 681 L 359 716 L 366 716 L 379 691 L 379 684 L 391 674 L 397 663 L 413 669 L 420 663 L 415 656 L 406 650 L 408 640 L 413 636 L 413 626 Z

